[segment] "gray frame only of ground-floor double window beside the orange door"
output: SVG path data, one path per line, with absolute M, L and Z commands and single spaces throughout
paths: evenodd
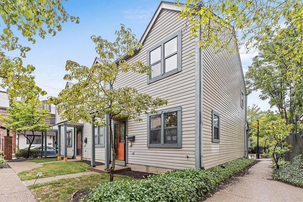
M 165 120 L 164 114 L 169 112 L 177 112 L 177 143 L 164 143 L 164 128 L 165 128 Z M 147 147 L 148 148 L 181 148 L 182 147 L 182 107 L 173 107 L 169 109 L 159 110 L 157 113 L 148 113 L 147 115 Z M 150 117 L 161 114 L 161 143 L 150 143 Z

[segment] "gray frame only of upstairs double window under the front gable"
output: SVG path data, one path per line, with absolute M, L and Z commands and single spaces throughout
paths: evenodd
M 171 39 L 177 37 L 177 68 L 176 69 L 172 69 L 171 71 L 168 72 L 164 72 L 165 69 L 165 59 L 175 55 L 176 53 L 172 53 L 169 56 L 165 57 L 165 53 L 164 53 L 164 44 L 168 41 L 170 41 Z M 161 46 L 161 60 L 154 62 L 153 64 L 150 64 L 150 52 L 157 49 L 158 47 Z M 147 76 L 147 84 L 158 81 L 160 79 L 163 79 L 165 77 L 171 76 L 175 73 L 181 72 L 182 68 L 181 68 L 181 50 L 182 49 L 182 33 L 181 33 L 181 29 L 178 30 L 177 32 L 175 32 L 174 34 L 170 35 L 169 37 L 167 37 L 166 39 L 164 39 L 163 41 L 161 41 L 160 43 L 158 43 L 157 45 L 152 46 L 150 49 L 147 50 L 147 65 L 151 66 L 151 65 L 155 65 L 158 62 L 161 62 L 161 74 L 158 76 L 155 76 L 154 78 L 151 78 L 151 75 Z

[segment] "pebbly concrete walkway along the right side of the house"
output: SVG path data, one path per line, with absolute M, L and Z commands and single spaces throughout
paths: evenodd
M 248 174 L 225 185 L 206 201 L 302 201 L 303 189 L 272 180 L 271 164 L 270 159 L 261 159 Z

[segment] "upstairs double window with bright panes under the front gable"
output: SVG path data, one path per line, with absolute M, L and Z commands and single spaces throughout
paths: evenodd
M 181 71 L 181 30 L 148 49 L 147 65 L 151 68 L 147 83 Z

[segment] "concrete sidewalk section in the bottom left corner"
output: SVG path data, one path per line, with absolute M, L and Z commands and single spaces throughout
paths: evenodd
M 12 168 L 0 169 L 1 202 L 34 202 L 32 192 L 25 186 Z

